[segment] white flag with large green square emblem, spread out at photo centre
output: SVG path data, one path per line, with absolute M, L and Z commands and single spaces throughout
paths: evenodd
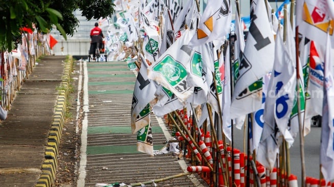
M 193 87 L 187 83 L 187 66 L 193 56 L 193 50 L 188 46 L 191 34 L 189 30 L 186 32 L 148 68 L 148 78 L 166 87 L 181 102 L 189 98 L 193 92 Z

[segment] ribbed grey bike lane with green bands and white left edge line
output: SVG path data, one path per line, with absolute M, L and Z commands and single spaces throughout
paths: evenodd
M 84 62 L 83 72 L 78 186 L 144 182 L 185 172 L 184 160 L 178 160 L 172 153 L 151 157 L 137 151 L 137 134 L 131 133 L 130 125 L 136 73 L 128 69 L 126 62 Z M 170 131 L 154 114 L 151 125 L 153 149 L 160 150 L 170 138 Z M 195 179 L 193 175 L 183 176 L 159 185 L 194 186 Z

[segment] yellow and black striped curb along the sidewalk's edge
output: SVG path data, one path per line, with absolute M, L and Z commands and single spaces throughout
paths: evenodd
M 58 90 L 58 98 L 53 115 L 53 122 L 48 136 L 45 149 L 44 161 L 41 166 L 41 175 L 35 187 L 51 187 L 54 184 L 58 165 L 59 144 L 62 129 L 65 123 L 66 100 L 69 94 L 70 76 L 72 72 L 73 58 L 70 56 L 65 61 L 64 75 Z

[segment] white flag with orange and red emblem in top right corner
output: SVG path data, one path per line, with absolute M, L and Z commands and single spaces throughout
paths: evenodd
M 296 24 L 299 26 L 299 33 L 317 43 L 326 41 L 328 33 L 333 44 L 333 4 L 330 0 L 297 1 Z

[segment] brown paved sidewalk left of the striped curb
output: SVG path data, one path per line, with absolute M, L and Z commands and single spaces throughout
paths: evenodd
M 0 124 L 0 186 L 30 187 L 42 173 L 50 178 L 46 180 L 54 177 L 45 171 L 44 156 L 57 111 L 56 88 L 66 74 L 64 61 L 65 56 L 43 57 L 16 92 L 8 118 Z

